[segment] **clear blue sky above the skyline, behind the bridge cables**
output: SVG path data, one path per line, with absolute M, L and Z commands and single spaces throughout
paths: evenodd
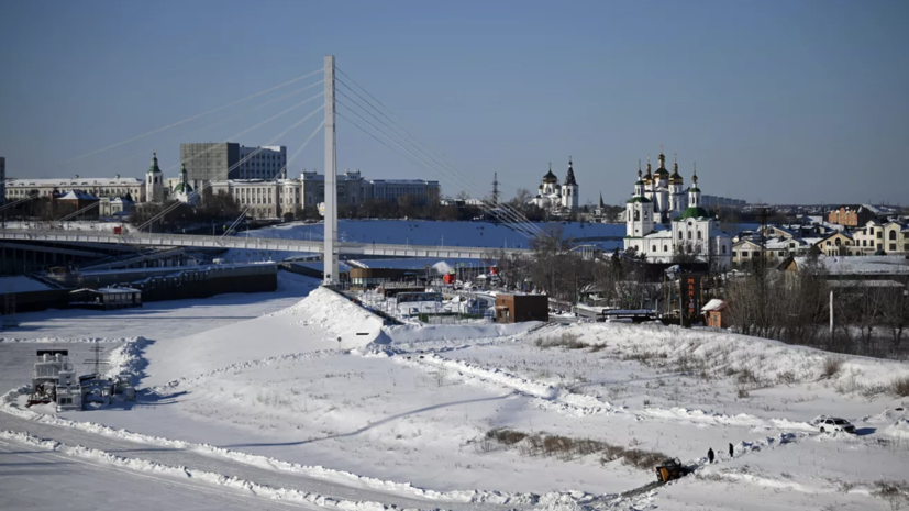
M 662 143 L 686 182 L 697 162 L 705 193 L 909 204 L 907 19 L 905 0 L 4 1 L 0 156 L 15 177 L 142 176 L 153 149 L 170 168 L 179 142 L 221 141 L 292 99 L 65 162 L 334 54 L 484 191 L 494 171 L 507 197 L 534 190 L 550 162 L 564 178 L 570 155 L 581 201 L 619 203 Z M 234 142 L 264 144 L 319 101 Z M 318 118 L 279 143 L 292 153 Z M 439 178 L 344 120 L 337 133 L 339 169 Z M 292 174 L 321 171 L 322 146 Z

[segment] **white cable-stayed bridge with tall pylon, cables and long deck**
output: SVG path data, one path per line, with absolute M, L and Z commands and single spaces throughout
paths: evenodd
M 395 113 L 388 109 L 385 104 L 383 104 L 375 96 L 369 93 L 364 87 L 353 80 L 343 70 L 339 69 L 335 66 L 334 56 L 328 55 L 324 59 L 324 67 L 322 69 L 317 69 L 314 71 L 304 74 L 297 78 L 293 78 L 289 81 L 285 81 L 284 84 L 279 84 L 274 87 L 269 87 L 265 90 L 256 92 L 254 95 L 247 96 L 246 98 L 242 98 L 240 100 L 235 100 L 223 104 L 221 107 L 208 110 L 202 113 L 198 113 L 191 115 L 187 119 L 181 121 L 177 121 L 170 123 L 166 126 L 162 126 L 144 134 L 133 136 L 131 138 L 118 142 L 115 144 L 111 144 L 99 149 L 86 153 L 81 156 L 70 159 L 70 162 L 75 162 L 85 157 L 89 157 L 114 147 L 119 147 L 121 145 L 125 145 L 146 136 L 170 130 L 191 121 L 198 120 L 200 118 L 213 114 L 215 112 L 225 110 L 231 107 L 235 107 L 248 100 L 255 99 L 257 97 L 264 96 L 282 87 L 289 86 L 291 84 L 298 84 L 302 80 L 306 80 L 311 77 L 315 77 L 322 75 L 322 79 L 314 82 L 296 89 L 290 93 L 285 93 L 284 96 L 275 99 L 270 99 L 263 104 L 248 108 L 240 113 L 235 113 L 225 120 L 218 121 L 215 123 L 209 124 L 202 129 L 196 130 L 189 134 L 198 133 L 202 130 L 208 127 L 221 124 L 226 122 L 231 119 L 235 119 L 236 116 L 243 115 L 247 112 L 257 110 L 267 104 L 271 104 L 278 101 L 281 101 L 286 98 L 292 97 L 299 92 L 302 92 L 308 89 L 312 89 L 319 85 L 324 85 L 324 91 L 319 92 L 315 96 L 312 96 L 301 102 L 295 103 L 293 105 L 284 109 L 282 111 L 278 112 L 275 115 L 266 119 L 265 121 L 258 122 L 253 124 L 252 126 L 243 130 L 236 134 L 233 134 L 225 138 L 223 142 L 228 142 L 230 140 L 235 140 L 241 135 L 250 133 L 253 130 L 259 129 L 260 126 L 271 123 L 273 121 L 296 111 L 300 107 L 318 99 L 319 97 L 324 98 L 324 104 L 315 108 L 313 111 L 309 112 L 306 115 L 298 118 L 298 120 L 290 125 L 289 127 L 285 129 L 271 140 L 266 142 L 263 146 L 260 146 L 257 151 L 250 153 L 244 158 L 241 158 L 237 163 L 232 165 L 230 168 L 223 170 L 220 176 L 217 176 L 215 179 L 206 181 L 202 186 L 198 187 L 198 189 L 191 191 L 191 199 L 195 202 L 195 199 L 211 188 L 212 182 L 217 180 L 226 180 L 230 178 L 231 173 L 247 162 L 250 158 L 254 157 L 258 151 L 262 151 L 265 146 L 269 146 L 274 144 L 276 141 L 281 140 L 281 137 L 286 136 L 292 130 L 297 129 L 298 126 L 306 123 L 309 119 L 313 118 L 320 111 L 324 112 L 324 120 L 320 122 L 320 124 L 309 134 L 308 137 L 300 144 L 297 151 L 292 154 L 292 156 L 287 160 L 286 165 L 279 169 L 270 179 L 269 181 L 276 181 L 281 176 L 286 175 L 287 167 L 299 156 L 299 154 L 306 148 L 306 146 L 315 137 L 315 135 L 322 131 L 324 133 L 324 141 L 325 141 L 325 190 L 324 190 L 324 226 L 325 226 L 325 234 L 324 234 L 324 242 L 312 242 L 312 241 L 302 241 L 302 240 L 282 240 L 282 238 L 266 238 L 266 237 L 239 237 L 233 235 L 235 233 L 236 227 L 241 224 L 244 216 L 254 205 L 253 203 L 245 203 L 242 204 L 242 211 L 236 220 L 231 223 L 230 229 L 222 236 L 198 236 L 198 235 L 181 235 L 181 234 L 153 234 L 151 231 L 156 222 L 162 222 L 162 220 L 166 219 L 167 215 L 174 212 L 177 208 L 181 205 L 180 201 L 175 201 L 173 204 L 167 204 L 152 218 L 148 218 L 143 224 L 138 225 L 134 233 L 128 235 L 115 235 L 115 234 L 104 234 L 98 232 L 79 232 L 79 231 L 12 231 L 12 230 L 0 230 L 0 238 L 2 240 L 10 240 L 10 241 L 32 241 L 32 242 L 66 242 L 66 243 L 92 243 L 92 244 L 132 244 L 132 245 L 146 245 L 146 246 L 184 246 L 184 247 L 223 247 L 223 248 L 241 248 L 241 249 L 257 249 L 257 251 L 288 251 L 288 252 L 318 252 L 324 255 L 323 259 L 325 260 L 325 271 L 324 271 L 324 282 L 325 284 L 334 284 L 339 279 L 339 271 L 337 271 L 337 259 L 339 254 L 357 254 L 357 255 L 376 255 L 376 256 L 410 256 L 410 257 L 447 257 L 447 258 L 483 258 L 484 255 L 488 254 L 490 248 L 485 247 L 444 247 L 444 246 L 415 246 L 415 245 L 389 245 L 389 244 L 372 244 L 372 243 L 341 243 L 337 240 L 337 165 L 336 165 L 336 143 L 335 143 L 335 121 L 336 116 L 340 116 L 345 122 L 352 124 L 354 127 L 358 129 L 359 131 L 367 134 L 369 137 L 378 142 L 379 144 L 384 145 L 388 149 L 395 152 L 396 154 L 400 155 L 404 159 L 408 159 L 412 164 L 417 165 L 421 169 L 429 170 L 435 174 L 441 180 L 446 181 L 450 185 L 454 185 L 455 187 L 459 187 L 461 189 L 467 191 L 473 197 L 480 200 L 480 208 L 489 215 L 496 218 L 498 221 L 502 223 L 507 223 L 512 230 L 517 231 L 518 233 L 522 234 L 526 238 L 532 238 L 543 233 L 543 231 L 533 223 L 529 222 L 524 215 L 512 208 L 511 205 L 499 202 L 497 198 L 494 196 L 491 198 L 487 198 L 486 192 L 480 190 L 475 184 L 470 181 L 462 171 L 455 167 L 452 162 L 444 156 L 444 154 L 435 152 L 429 148 L 425 144 L 420 142 L 415 138 L 410 131 L 402 127 L 402 122 L 395 115 Z M 339 76 L 340 75 L 340 76 Z M 340 87 L 339 87 L 340 86 Z M 336 110 L 337 107 L 341 107 L 342 110 Z M 188 136 L 189 134 L 185 134 L 184 136 Z M 209 149 L 210 151 L 210 149 Z M 178 165 L 186 164 L 191 159 L 197 157 L 204 156 L 206 153 L 196 154 L 189 157 L 187 160 L 181 160 L 179 164 L 170 167 L 166 170 L 173 170 Z M 160 179 L 160 178 L 156 178 Z M 152 180 L 146 177 L 146 188 L 152 186 Z M 158 184 L 160 181 L 154 181 Z M 147 190 L 148 193 L 152 190 Z M 5 204 L 0 207 L 0 211 L 5 208 L 15 207 L 16 204 L 22 203 L 23 201 L 27 202 L 33 200 L 34 197 L 20 199 L 12 203 Z M 75 212 L 69 212 L 64 218 L 57 219 L 58 221 L 67 221 L 67 220 L 78 220 L 78 218 L 89 210 L 97 208 L 98 203 L 89 204 L 80 210 Z M 143 231 L 147 230 L 148 233 L 144 233 Z M 525 253 L 528 251 L 524 249 L 507 249 L 508 253 Z

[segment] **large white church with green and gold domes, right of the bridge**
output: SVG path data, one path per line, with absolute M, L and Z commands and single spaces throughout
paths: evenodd
M 688 197 L 679 199 L 681 176 L 678 163 L 674 173 L 664 166 L 659 155 L 659 169 L 642 175 L 638 168 L 634 196 L 625 205 L 625 251 L 634 249 L 650 263 L 672 263 L 679 255 L 710 264 L 711 270 L 727 270 L 732 265 L 732 236 L 720 230 L 720 222 L 701 207 L 698 174 L 691 178 Z M 663 173 L 661 173 L 663 170 Z M 650 178 L 650 179 L 649 179 Z M 677 211 L 679 204 L 685 204 Z M 655 231 L 654 224 L 665 223 L 672 216 L 672 229 Z

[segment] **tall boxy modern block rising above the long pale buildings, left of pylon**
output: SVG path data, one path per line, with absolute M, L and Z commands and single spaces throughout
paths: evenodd
M 245 147 L 235 142 L 180 144 L 180 162 L 189 184 L 199 190 L 206 181 L 276 179 L 287 171 L 287 147 Z

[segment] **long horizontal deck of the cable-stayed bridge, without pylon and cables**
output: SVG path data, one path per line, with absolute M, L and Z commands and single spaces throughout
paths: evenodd
M 51 243 L 92 243 L 142 246 L 190 246 L 199 248 L 239 248 L 269 252 L 321 253 L 322 242 L 252 236 L 198 236 L 193 234 L 129 233 L 99 231 L 0 230 L 0 240 Z M 396 245 L 387 243 L 337 243 L 340 254 L 364 256 L 431 257 L 483 259 L 500 248 L 477 246 Z M 506 248 L 506 254 L 529 254 L 525 248 Z

